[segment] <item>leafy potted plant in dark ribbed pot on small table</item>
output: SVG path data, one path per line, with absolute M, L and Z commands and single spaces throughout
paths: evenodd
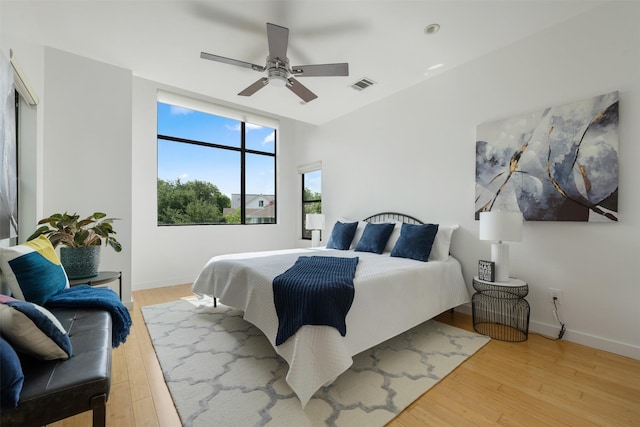
M 83 279 L 98 274 L 100 247 L 111 246 L 116 252 L 122 250 L 111 225 L 116 218 L 107 218 L 102 212 L 95 212 L 84 219 L 78 214 L 53 214 L 38 221 L 39 227 L 28 240 L 41 235 L 47 236 L 51 245 L 60 247 L 60 262 L 69 279 Z

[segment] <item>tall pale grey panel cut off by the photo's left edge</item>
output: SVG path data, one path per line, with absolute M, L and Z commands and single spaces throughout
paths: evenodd
M 18 236 L 18 165 L 13 69 L 0 52 L 0 239 Z

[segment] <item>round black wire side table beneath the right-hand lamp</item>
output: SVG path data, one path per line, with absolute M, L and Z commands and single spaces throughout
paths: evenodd
M 473 278 L 473 329 L 501 341 L 526 341 L 529 336 L 529 286 L 520 279 L 487 282 Z

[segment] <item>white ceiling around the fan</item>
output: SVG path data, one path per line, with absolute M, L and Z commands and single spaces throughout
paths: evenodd
M 132 70 L 135 76 L 322 124 L 524 37 L 603 1 L 159 1 L 2 0 L 6 30 L 31 42 Z M 303 104 L 286 88 L 237 95 L 263 73 L 200 59 L 200 52 L 264 65 L 266 22 L 289 28 L 291 65 L 348 62 L 348 77 L 300 82 L 318 98 Z M 441 25 L 435 35 L 424 28 Z M 444 64 L 425 75 L 429 67 Z M 358 92 L 363 77 L 376 85 Z

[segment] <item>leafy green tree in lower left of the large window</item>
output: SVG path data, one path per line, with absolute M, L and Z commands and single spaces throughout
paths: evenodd
M 222 212 L 231 200 L 217 186 L 204 181 L 165 181 L 158 178 L 158 224 L 225 222 Z

